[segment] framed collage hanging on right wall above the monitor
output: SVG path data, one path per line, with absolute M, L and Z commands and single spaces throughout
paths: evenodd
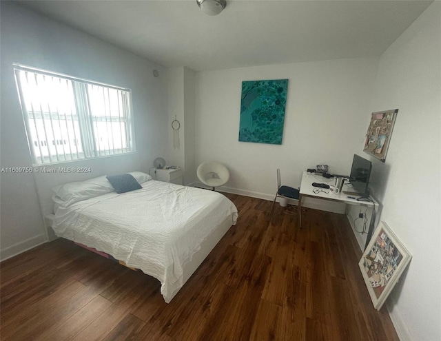
M 364 152 L 385 162 L 398 109 L 373 112 L 367 129 Z

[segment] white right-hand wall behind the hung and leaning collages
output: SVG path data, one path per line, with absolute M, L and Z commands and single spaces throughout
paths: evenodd
M 381 220 L 413 259 L 387 305 L 402 340 L 441 340 L 440 1 L 380 58 L 369 112 L 394 108 L 391 144 L 386 163 L 374 162 L 373 190 L 383 203 Z

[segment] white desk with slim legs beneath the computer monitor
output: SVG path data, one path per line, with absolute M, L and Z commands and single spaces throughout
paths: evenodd
M 325 178 L 322 176 L 322 174 L 315 174 L 315 173 L 309 173 L 309 172 L 303 172 L 302 175 L 302 183 L 300 184 L 300 196 L 298 198 L 298 223 L 299 226 L 302 227 L 302 198 L 305 196 L 309 196 L 311 198 L 320 198 L 325 200 L 334 200 L 338 201 L 340 203 L 350 204 L 350 205 L 359 205 L 359 206 L 365 206 L 365 207 L 373 207 L 372 210 L 372 216 L 371 216 L 371 224 L 369 225 L 369 231 L 367 232 L 367 238 L 366 238 L 366 245 L 369 243 L 369 240 L 371 240 L 371 236 L 373 233 L 373 225 L 375 222 L 373 221 L 373 218 L 375 217 L 375 210 L 378 207 L 378 203 L 373 200 L 371 201 L 358 201 L 357 198 L 360 198 L 360 196 L 356 196 L 354 194 L 345 194 L 343 191 L 351 192 L 351 188 L 348 187 L 348 185 L 344 185 L 342 192 L 339 194 L 334 194 L 334 192 L 331 192 L 329 189 L 320 188 L 320 187 L 314 187 L 312 183 L 326 183 L 327 185 L 334 185 L 334 178 Z M 314 189 L 316 189 L 316 193 L 314 193 Z M 322 191 L 320 191 L 322 189 Z M 348 196 L 353 196 L 355 199 L 348 198 Z M 366 247 L 365 247 L 366 248 Z

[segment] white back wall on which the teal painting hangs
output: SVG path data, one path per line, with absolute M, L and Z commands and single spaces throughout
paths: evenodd
M 365 135 L 377 63 L 342 59 L 196 73 L 196 164 L 223 162 L 231 173 L 227 191 L 268 199 L 277 168 L 292 187 L 318 164 L 349 174 Z M 238 141 L 242 81 L 259 79 L 289 79 L 282 145 Z

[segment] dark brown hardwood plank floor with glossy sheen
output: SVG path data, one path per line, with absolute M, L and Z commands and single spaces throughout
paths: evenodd
M 1 263 L 1 340 L 398 340 L 347 218 L 226 194 L 239 219 L 165 304 L 157 280 L 54 240 Z

